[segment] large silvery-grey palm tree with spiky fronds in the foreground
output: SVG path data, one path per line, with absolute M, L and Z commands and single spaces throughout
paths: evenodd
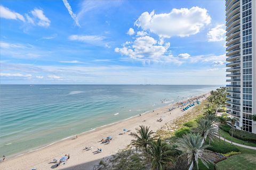
M 198 159 L 208 168 L 208 163 L 211 162 L 209 154 L 206 148 L 210 145 L 204 145 L 204 139 L 200 134 L 188 133 L 177 140 L 179 150 L 183 151 L 187 155 L 188 163 L 195 163 L 198 169 Z M 184 155 L 182 154 L 182 155 Z

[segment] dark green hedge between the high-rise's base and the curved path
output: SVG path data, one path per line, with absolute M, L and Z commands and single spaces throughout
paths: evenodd
M 231 133 L 232 132 L 231 132 L 231 129 L 230 129 L 229 134 L 231 135 Z M 242 134 L 243 134 L 243 138 L 242 138 Z M 256 134 L 251 133 L 251 132 L 234 129 L 233 137 L 235 137 L 237 139 L 244 140 L 244 141 L 251 141 L 251 142 L 256 143 Z

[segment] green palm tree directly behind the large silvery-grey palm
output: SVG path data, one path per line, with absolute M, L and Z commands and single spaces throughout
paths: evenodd
M 209 117 L 211 117 L 211 120 L 202 119 L 197 123 L 197 127 L 193 129 L 194 132 L 201 134 L 203 142 L 207 137 L 210 141 L 213 141 L 215 134 L 218 133 L 218 130 L 213 125 L 214 121 L 212 120 L 212 116 Z

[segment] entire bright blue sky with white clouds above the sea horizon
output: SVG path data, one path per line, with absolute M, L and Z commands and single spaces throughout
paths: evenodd
M 1 83 L 225 84 L 225 1 L 1 1 Z

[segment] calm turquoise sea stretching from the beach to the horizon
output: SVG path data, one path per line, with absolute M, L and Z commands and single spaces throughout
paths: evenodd
M 0 155 L 20 154 L 218 87 L 1 85 Z

